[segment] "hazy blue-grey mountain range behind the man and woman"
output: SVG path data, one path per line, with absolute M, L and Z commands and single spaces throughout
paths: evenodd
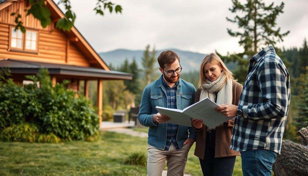
M 158 50 L 156 52 L 156 58 L 160 55 L 162 51 L 165 50 Z M 178 49 L 170 49 L 180 57 L 180 64 L 183 68 L 182 72 L 190 72 L 190 71 L 198 71 L 200 69 L 200 64 L 202 59 L 207 54 L 197 53 L 197 52 L 190 52 L 190 51 L 181 51 Z M 136 62 L 140 69 L 143 68 L 141 64 L 141 58 L 143 57 L 143 50 L 127 50 L 127 49 L 117 49 L 114 51 L 108 52 L 101 52 L 99 56 L 105 61 L 105 63 L 109 66 L 110 63 L 113 67 L 118 68 L 121 64 L 124 63 L 124 60 L 127 58 L 128 62 L 131 63 L 132 59 L 135 58 Z M 227 65 L 230 69 L 233 69 L 235 66 L 234 64 Z M 159 68 L 158 63 L 156 62 L 155 67 Z

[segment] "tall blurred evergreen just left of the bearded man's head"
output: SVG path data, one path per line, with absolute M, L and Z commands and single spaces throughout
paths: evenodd
M 147 80 L 147 84 L 151 83 L 151 75 L 154 72 L 154 64 L 155 64 L 155 47 L 150 51 L 150 45 L 148 45 L 144 52 L 143 57 L 141 58 L 142 66 L 144 67 L 145 78 Z

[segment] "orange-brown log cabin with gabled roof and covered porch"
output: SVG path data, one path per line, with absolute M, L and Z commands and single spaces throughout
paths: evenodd
M 36 74 L 42 66 L 47 68 L 53 84 L 70 80 L 68 88 L 79 91 L 84 82 L 84 95 L 88 97 L 88 81 L 97 80 L 97 107 L 102 121 L 103 80 L 129 80 L 132 74 L 111 71 L 79 31 L 62 31 L 55 23 L 64 17 L 52 0 L 45 0 L 51 11 L 51 25 L 43 28 L 33 15 L 26 16 L 28 0 L 0 0 L 0 68 L 9 67 L 16 83 L 23 83 L 25 75 Z M 15 31 L 15 17 L 21 14 L 26 32 Z M 100 123 L 101 124 L 101 123 Z

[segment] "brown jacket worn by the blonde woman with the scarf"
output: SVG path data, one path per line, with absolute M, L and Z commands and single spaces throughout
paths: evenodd
M 243 86 L 240 83 L 232 81 L 232 104 L 238 105 L 242 89 Z M 201 89 L 198 88 L 195 96 L 195 103 L 199 101 L 200 94 Z M 234 118 L 224 122 L 223 126 L 216 128 L 215 158 L 241 155 L 240 152 L 230 149 L 233 124 Z M 204 158 L 206 131 L 207 126 L 203 124 L 203 128 L 197 132 L 195 155 L 201 159 Z

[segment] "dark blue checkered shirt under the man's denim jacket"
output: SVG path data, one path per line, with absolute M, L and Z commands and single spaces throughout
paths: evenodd
M 172 109 L 177 109 L 176 106 L 176 86 L 178 85 L 179 82 L 176 82 L 176 84 L 170 88 L 163 77 L 161 77 L 161 79 L 163 80 L 163 84 L 164 87 L 166 89 L 166 94 L 167 94 L 167 108 L 172 108 Z M 176 141 L 176 135 L 177 135 L 177 131 L 179 129 L 179 125 L 176 124 L 171 124 L 171 123 L 167 123 L 167 136 L 166 136 L 166 145 L 164 150 L 169 150 L 169 147 L 171 145 L 171 141 L 173 141 L 175 148 L 178 150 L 180 149 L 179 145 L 177 145 L 177 141 Z

